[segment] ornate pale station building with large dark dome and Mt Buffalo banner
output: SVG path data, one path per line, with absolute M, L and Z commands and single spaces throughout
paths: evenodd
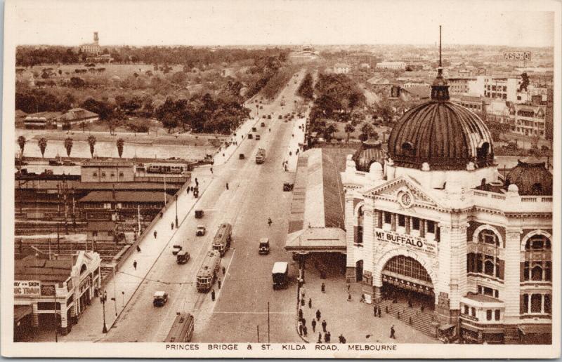
M 551 343 L 552 176 L 520 162 L 504 179 L 487 126 L 448 87 L 440 68 L 384 160 L 348 156 L 346 279 L 433 337 Z

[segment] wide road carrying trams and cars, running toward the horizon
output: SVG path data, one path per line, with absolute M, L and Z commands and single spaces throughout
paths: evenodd
M 282 191 L 282 184 L 292 178 L 292 174 L 285 173 L 282 161 L 287 158 L 292 121 L 285 123 L 277 116 L 281 112 L 291 112 L 296 99 L 294 93 L 303 75 L 300 72 L 298 78 L 292 78 L 277 100 L 259 109 L 260 117 L 274 114 L 266 121 L 265 128 L 259 126 L 263 119 L 257 124 L 261 140 L 244 140 L 230 160 L 214 168 L 214 179 L 197 206 L 204 210 L 204 218 L 196 220 L 188 215 L 181 223 L 174 239 L 103 342 L 162 342 L 178 311 L 188 311 L 195 316 L 195 342 L 253 342 L 257 340 L 258 324 L 263 333 L 260 340 L 264 341 L 267 340 L 268 301 L 271 341 L 295 340 L 295 296 L 289 289 L 273 291 L 271 267 L 275 261 L 290 260 L 282 246 L 287 234 L 286 216 L 291 194 Z M 285 107 L 280 105 L 283 97 Z M 255 106 L 251 111 L 256 116 Z M 262 165 L 254 161 L 258 147 L 267 150 L 266 163 Z M 240 153 L 245 154 L 246 159 L 238 159 Z M 273 219 L 271 227 L 267 224 L 268 217 Z M 217 300 L 212 302 L 210 293 L 197 293 L 195 276 L 222 222 L 233 224 L 233 244 L 221 262 L 227 270 L 226 276 L 221 273 L 223 288 L 218 290 L 215 284 Z M 195 236 L 197 224 L 207 227 L 205 236 Z M 257 253 L 258 240 L 263 236 L 270 238 L 270 255 Z M 191 254 L 187 264 L 176 264 L 171 254 L 175 244 L 182 245 Z M 289 272 L 294 274 L 295 269 Z M 169 293 L 169 302 L 161 308 L 152 306 L 152 295 L 157 290 Z

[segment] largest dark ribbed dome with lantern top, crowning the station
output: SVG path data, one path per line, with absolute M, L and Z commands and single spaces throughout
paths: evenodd
M 431 87 L 431 100 L 413 107 L 394 126 L 388 138 L 388 156 L 396 166 L 431 170 L 466 170 L 490 166 L 492 136 L 473 112 L 449 101 L 441 74 Z

